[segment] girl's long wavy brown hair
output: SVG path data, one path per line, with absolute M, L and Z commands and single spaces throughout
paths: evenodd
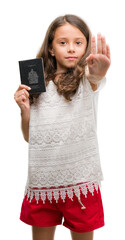
M 52 46 L 55 31 L 58 27 L 69 23 L 77 27 L 87 40 L 86 51 L 82 59 L 75 68 L 68 69 L 66 73 L 61 74 L 58 81 L 54 81 L 56 76 L 56 59 L 51 56 L 49 49 Z M 62 94 L 65 99 L 71 101 L 71 97 L 76 93 L 80 80 L 85 73 L 86 57 L 91 51 L 91 32 L 87 24 L 78 16 L 65 15 L 57 17 L 49 26 L 43 44 L 37 54 L 37 58 L 43 58 L 46 85 L 50 80 L 57 86 L 57 91 Z

